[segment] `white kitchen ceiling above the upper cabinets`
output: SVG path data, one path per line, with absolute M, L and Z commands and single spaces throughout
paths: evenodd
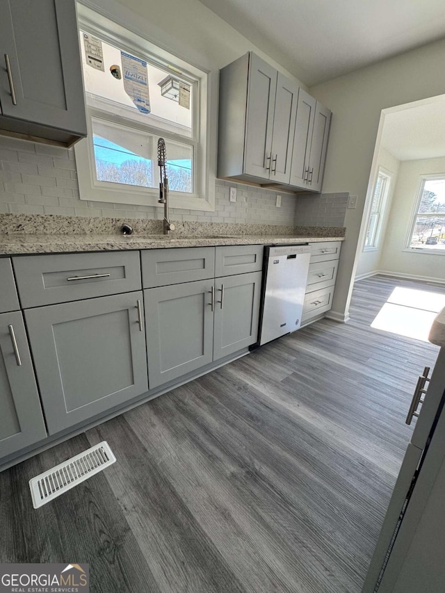
M 313 86 L 445 36 L 443 0 L 200 0 Z

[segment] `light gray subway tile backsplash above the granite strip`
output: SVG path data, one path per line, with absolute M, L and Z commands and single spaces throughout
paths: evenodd
M 236 202 L 229 188 L 236 187 Z M 216 179 L 215 211 L 170 209 L 180 222 L 343 226 L 348 194 L 291 195 Z M 345 198 L 346 196 L 346 198 Z M 346 200 L 346 201 L 345 201 Z M 74 149 L 0 136 L 0 212 L 162 218 L 161 208 L 87 202 L 79 198 Z

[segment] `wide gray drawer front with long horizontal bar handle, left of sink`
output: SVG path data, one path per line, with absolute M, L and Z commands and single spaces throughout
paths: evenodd
M 13 263 L 24 309 L 141 288 L 137 251 L 15 257 Z

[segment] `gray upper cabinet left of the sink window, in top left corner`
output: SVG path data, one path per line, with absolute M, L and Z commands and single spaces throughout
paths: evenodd
M 0 0 L 0 129 L 71 145 L 86 136 L 74 0 Z

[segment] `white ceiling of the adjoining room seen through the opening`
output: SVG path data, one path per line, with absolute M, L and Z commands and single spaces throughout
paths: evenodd
M 387 113 L 380 146 L 399 161 L 445 156 L 445 97 Z

